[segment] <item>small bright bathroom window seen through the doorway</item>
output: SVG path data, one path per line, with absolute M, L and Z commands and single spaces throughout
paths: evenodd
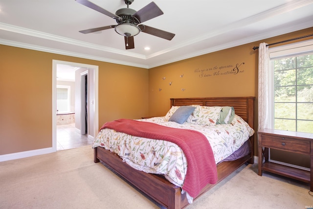
M 57 113 L 70 112 L 70 86 L 57 85 Z

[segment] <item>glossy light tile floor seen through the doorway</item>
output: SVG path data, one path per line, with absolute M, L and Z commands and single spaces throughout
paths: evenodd
M 81 135 L 75 123 L 57 125 L 57 150 L 77 148 L 92 144 L 87 135 Z

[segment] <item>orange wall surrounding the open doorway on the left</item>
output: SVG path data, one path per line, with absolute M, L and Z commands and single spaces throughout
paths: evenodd
M 99 66 L 99 126 L 148 114 L 148 70 L 0 45 L 0 155 L 52 146 L 52 60 Z

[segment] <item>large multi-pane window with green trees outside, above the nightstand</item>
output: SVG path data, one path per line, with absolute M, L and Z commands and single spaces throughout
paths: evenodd
M 313 133 L 313 41 L 268 51 L 273 128 Z

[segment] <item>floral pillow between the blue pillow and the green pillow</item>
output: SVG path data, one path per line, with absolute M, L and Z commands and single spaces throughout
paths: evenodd
M 193 105 L 196 107 L 191 116 L 187 119 L 187 122 L 198 124 L 198 125 L 216 125 L 217 120 L 220 117 L 222 107 L 219 106 L 200 106 Z

